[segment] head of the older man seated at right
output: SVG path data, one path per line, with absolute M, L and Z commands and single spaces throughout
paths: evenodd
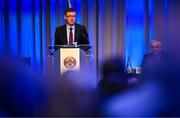
M 155 55 L 160 54 L 161 53 L 161 41 L 159 41 L 159 40 L 152 40 L 151 51 Z

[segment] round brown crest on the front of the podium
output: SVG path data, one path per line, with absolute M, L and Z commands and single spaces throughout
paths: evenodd
M 76 65 L 76 59 L 73 57 L 66 57 L 64 59 L 64 66 L 66 68 L 74 68 Z

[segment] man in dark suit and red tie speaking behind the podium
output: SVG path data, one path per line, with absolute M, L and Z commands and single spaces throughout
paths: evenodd
M 55 45 L 89 45 L 85 26 L 75 23 L 76 10 L 67 8 L 64 14 L 65 25 L 56 28 Z M 85 50 L 88 50 L 87 48 Z

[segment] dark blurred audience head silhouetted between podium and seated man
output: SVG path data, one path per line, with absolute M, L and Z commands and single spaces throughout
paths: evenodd
M 102 66 L 102 79 L 99 89 L 104 95 L 114 95 L 127 88 L 127 76 L 123 60 L 114 57 L 106 60 Z

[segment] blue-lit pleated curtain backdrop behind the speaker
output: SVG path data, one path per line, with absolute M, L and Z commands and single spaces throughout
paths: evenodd
M 131 58 L 139 67 L 149 52 L 152 39 L 164 45 L 171 36 L 173 18 L 179 18 L 177 0 L 71 0 L 77 9 L 77 22 L 84 24 L 92 45 L 92 70 L 111 56 Z M 64 24 L 66 0 L 1 0 L 0 52 L 31 57 L 39 72 L 51 70 L 48 45 L 53 44 L 55 28 Z M 174 22 L 177 23 L 178 21 Z M 177 26 L 174 25 L 173 29 Z

